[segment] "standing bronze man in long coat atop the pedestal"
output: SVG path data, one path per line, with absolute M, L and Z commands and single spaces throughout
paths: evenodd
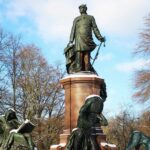
M 87 14 L 87 6 L 79 6 L 80 16 L 76 17 L 73 22 L 70 41 L 68 47 L 74 45 L 75 64 L 73 72 L 79 71 L 91 71 L 90 53 L 95 49 L 96 44 L 93 41 L 92 32 L 94 32 L 96 38 L 105 42 L 105 38 L 102 37 L 100 31 L 97 28 L 95 19 L 93 16 Z

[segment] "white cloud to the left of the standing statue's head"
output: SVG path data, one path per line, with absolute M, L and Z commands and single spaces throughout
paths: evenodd
M 64 38 L 66 35 L 69 37 L 67 32 L 71 29 L 73 20 L 72 13 L 69 13 L 73 8 L 68 5 L 71 4 L 67 0 L 14 0 L 8 3 L 6 16 L 13 21 L 26 17 L 45 40 Z

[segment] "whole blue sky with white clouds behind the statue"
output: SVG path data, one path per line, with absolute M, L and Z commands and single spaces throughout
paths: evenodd
M 87 13 L 95 17 L 106 37 L 106 47 L 101 47 L 94 64 L 107 85 L 104 112 L 114 116 L 128 107 L 140 114 L 146 104 L 138 104 L 132 98 L 133 74 L 149 60 L 134 57 L 133 51 L 145 27 L 144 18 L 150 13 L 150 0 L 0 0 L 0 26 L 20 34 L 24 43 L 41 48 L 49 64 L 60 63 L 65 68 L 63 51 L 81 4 L 87 5 Z

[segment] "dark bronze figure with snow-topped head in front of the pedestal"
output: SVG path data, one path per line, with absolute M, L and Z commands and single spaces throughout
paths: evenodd
M 66 150 L 99 150 L 96 128 L 107 126 L 102 114 L 104 100 L 98 95 L 90 95 L 81 107 L 77 128 L 71 133 Z

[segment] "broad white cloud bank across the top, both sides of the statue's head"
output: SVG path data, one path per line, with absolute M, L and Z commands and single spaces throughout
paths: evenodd
M 150 6 L 149 0 L 13 0 L 7 1 L 3 13 L 13 21 L 27 17 L 45 40 L 68 39 L 73 19 L 79 15 L 78 6 L 82 3 L 88 5 L 89 14 L 95 16 L 102 33 L 126 36 L 141 27 Z

